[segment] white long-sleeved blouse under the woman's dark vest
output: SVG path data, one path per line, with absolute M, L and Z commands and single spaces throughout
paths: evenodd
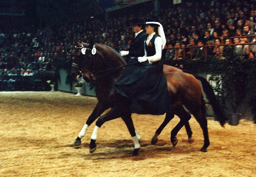
M 147 45 L 148 45 L 148 43 L 150 42 L 150 40 L 153 38 L 154 34 L 155 34 L 155 32 L 153 32 L 151 35 L 149 35 L 149 36 L 147 37 L 147 40 L 146 40 L 146 44 L 147 44 Z M 150 64 L 152 64 L 154 61 L 160 60 L 161 57 L 162 57 L 162 45 L 163 45 L 162 39 L 161 39 L 159 36 L 156 37 L 154 44 L 155 44 L 155 55 L 153 55 L 153 56 L 151 56 L 151 57 L 147 57 L 147 51 L 146 51 L 146 49 L 145 49 L 145 47 L 144 47 L 144 51 L 145 51 L 144 57 L 147 57 L 148 62 L 149 62 Z

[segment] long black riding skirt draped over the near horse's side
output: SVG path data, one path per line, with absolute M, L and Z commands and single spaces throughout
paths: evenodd
M 130 59 L 128 64 L 136 61 Z M 132 113 L 163 115 L 171 109 L 161 60 L 153 64 L 146 61 L 127 66 L 114 89 L 128 100 Z

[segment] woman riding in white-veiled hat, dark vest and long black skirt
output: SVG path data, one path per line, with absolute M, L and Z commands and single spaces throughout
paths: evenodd
M 146 22 L 145 29 L 145 55 L 133 58 L 139 63 L 128 66 L 114 85 L 120 96 L 117 104 L 131 108 L 132 113 L 163 115 L 171 109 L 161 60 L 165 34 L 158 22 Z

